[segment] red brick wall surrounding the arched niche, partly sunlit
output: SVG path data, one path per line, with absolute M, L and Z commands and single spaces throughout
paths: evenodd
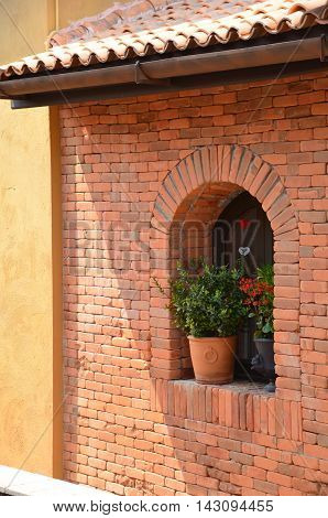
M 327 86 L 320 73 L 62 109 L 68 479 L 327 493 Z M 184 379 L 188 347 L 152 281 L 166 287 L 186 249 L 210 251 L 241 190 L 274 234 L 273 396 Z

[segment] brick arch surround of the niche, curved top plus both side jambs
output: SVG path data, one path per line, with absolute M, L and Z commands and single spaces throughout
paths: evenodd
M 214 194 L 218 196 L 219 213 L 220 207 L 229 203 L 238 190 L 248 191 L 261 203 L 274 234 L 277 387 L 291 387 L 294 390 L 297 369 L 291 371 L 284 350 L 294 347 L 293 365 L 296 366 L 299 360 L 298 222 L 287 192 L 271 164 L 250 149 L 234 144 L 199 148 L 183 159 L 166 175 L 155 199 L 151 220 L 151 266 L 155 277 L 165 285 L 173 272 L 173 259 L 176 259 L 171 257 L 174 223 L 185 218 L 188 211 L 197 209 L 204 193 L 208 192 L 211 198 L 215 198 Z M 214 214 L 214 219 L 217 216 Z M 190 366 L 186 342 L 175 330 L 165 301 L 161 301 L 156 288 L 151 289 L 150 304 L 152 377 L 183 378 Z M 294 377 L 292 381 L 291 374 Z

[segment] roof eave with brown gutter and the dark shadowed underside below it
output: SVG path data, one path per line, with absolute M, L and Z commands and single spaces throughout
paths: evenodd
M 12 99 L 14 107 L 21 107 L 65 104 L 68 97 L 72 98 L 69 94 L 73 91 L 75 97 L 78 97 L 78 93 L 83 94 L 84 100 L 89 100 L 89 93 L 91 100 L 92 90 L 100 88 L 107 89 L 107 95 L 103 91 L 105 98 L 113 97 L 118 88 L 117 93 L 122 93 L 124 88 L 128 88 L 129 95 L 142 95 L 143 91 L 149 94 L 157 91 L 158 88 L 160 90 L 170 89 L 174 85 L 178 86 L 179 83 L 183 89 L 185 88 L 183 79 L 192 78 L 192 76 L 205 77 L 216 74 L 223 77 L 229 72 L 250 68 L 255 71 L 256 75 L 256 71 L 261 72 L 262 68 L 274 68 L 280 65 L 291 68 L 292 64 L 313 61 L 324 66 L 327 56 L 327 30 L 321 28 L 319 35 L 310 37 L 289 39 L 270 44 L 258 42 L 255 45 L 230 50 L 218 51 L 214 47 L 210 52 L 207 48 L 201 53 L 181 56 L 153 57 L 129 64 L 112 63 L 83 71 L 47 73 L 35 77 L 2 80 L 0 82 L 0 98 Z M 134 94 L 131 93 L 133 86 Z M 194 84 L 190 86 L 194 87 Z M 51 101 L 51 98 L 56 101 Z M 33 101 L 37 101 L 36 105 L 33 105 Z

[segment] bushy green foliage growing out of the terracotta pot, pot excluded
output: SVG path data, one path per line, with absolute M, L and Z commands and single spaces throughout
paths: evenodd
M 171 281 L 171 304 L 175 322 L 195 337 L 236 335 L 243 314 L 238 269 L 204 262 L 198 270 L 178 265 Z

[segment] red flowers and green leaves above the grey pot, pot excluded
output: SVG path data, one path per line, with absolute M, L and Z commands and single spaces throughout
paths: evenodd
M 245 314 L 255 319 L 255 338 L 272 338 L 273 336 L 273 267 L 265 265 L 258 268 L 256 278 L 242 277 L 240 289 L 244 295 Z

